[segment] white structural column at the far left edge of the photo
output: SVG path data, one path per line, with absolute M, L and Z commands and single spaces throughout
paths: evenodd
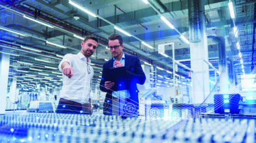
M 5 114 L 10 55 L 0 53 L 0 114 Z

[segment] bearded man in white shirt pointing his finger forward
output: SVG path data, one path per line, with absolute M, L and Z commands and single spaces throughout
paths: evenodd
M 93 68 L 89 57 L 98 46 L 97 37 L 87 36 L 78 54 L 68 53 L 59 64 L 63 86 L 56 113 L 91 114 L 91 79 Z

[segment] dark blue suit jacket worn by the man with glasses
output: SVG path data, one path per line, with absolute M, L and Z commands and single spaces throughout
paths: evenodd
M 137 84 L 144 84 L 146 80 L 145 73 L 143 72 L 141 68 L 141 62 L 139 60 L 139 57 L 134 56 L 134 55 L 128 55 L 124 53 L 125 55 L 125 64 L 124 66 L 126 67 L 126 72 L 128 75 L 128 89 L 130 91 L 130 98 L 126 99 L 127 102 L 130 104 L 134 104 L 136 110 L 139 109 L 139 98 L 138 98 L 138 93 L 139 90 L 137 89 Z M 102 79 L 100 81 L 100 90 L 107 92 L 106 93 L 106 98 L 104 100 L 104 108 L 103 108 L 103 113 L 111 115 L 111 109 L 110 109 L 110 104 L 112 100 L 112 91 L 111 90 L 106 90 L 104 87 L 104 83 L 106 79 L 106 69 L 113 68 L 113 58 L 110 59 L 110 61 L 107 61 L 103 64 L 103 70 L 102 70 Z

